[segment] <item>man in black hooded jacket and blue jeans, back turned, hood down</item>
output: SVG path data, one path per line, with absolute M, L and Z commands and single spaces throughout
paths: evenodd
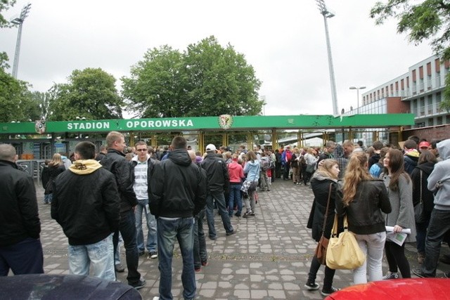
M 182 136 L 173 139 L 169 157 L 155 164 L 153 170 L 149 205 L 158 223 L 160 299 L 173 299 L 172 256 L 175 240 L 178 240 L 183 256 L 183 297 L 194 299 L 193 216 L 205 207 L 205 178 L 191 162 L 186 138 Z

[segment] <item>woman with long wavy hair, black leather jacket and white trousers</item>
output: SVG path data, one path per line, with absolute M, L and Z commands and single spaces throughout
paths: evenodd
M 336 212 L 347 214 L 349 231 L 354 233 L 359 247 L 366 254 L 363 266 L 353 271 L 355 285 L 383 279 L 382 259 L 386 241 L 385 214 L 391 212 L 385 184 L 368 173 L 364 152 L 354 152 L 345 170 L 342 201 L 336 202 Z

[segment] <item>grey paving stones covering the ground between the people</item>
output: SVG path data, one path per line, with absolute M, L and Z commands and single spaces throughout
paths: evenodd
M 43 194 L 44 190 L 37 185 L 44 271 L 68 274 L 68 240 L 59 224 L 51 219 L 50 206 L 44 204 Z M 320 289 L 309 292 L 303 287 L 316 247 L 311 231 L 306 228 L 312 200 L 309 186 L 293 185 L 291 181 L 277 179 L 271 185 L 270 192 L 259 192 L 256 216 L 248 219 L 233 216 L 231 223 L 237 230 L 235 235 L 225 235 L 220 217 L 216 215 L 217 240 L 207 238 L 209 265 L 195 273 L 198 299 L 323 299 Z M 415 249 L 415 244 L 406 245 L 411 269 L 418 266 Z M 449 247 L 444 245 L 441 254 L 448 253 Z M 125 264 L 122 247 L 122 265 Z M 174 299 L 183 299 L 181 266 L 181 254 L 176 244 L 172 263 Z M 443 277 L 447 270 L 450 266 L 440 263 L 437 277 Z M 158 259 L 150 259 L 147 253 L 140 256 L 139 271 L 147 282 L 139 290 L 143 299 L 158 296 Z M 383 273 L 386 271 L 387 263 L 384 261 Z M 117 273 L 117 279 L 127 282 L 126 268 L 124 273 Z M 322 281 L 323 267 L 317 277 L 320 285 Z M 343 288 L 351 284 L 350 270 L 336 271 L 335 287 Z

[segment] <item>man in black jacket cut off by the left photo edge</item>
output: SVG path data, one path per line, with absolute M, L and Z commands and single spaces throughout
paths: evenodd
M 0 276 L 44 273 L 36 190 L 16 160 L 15 148 L 1 144 Z

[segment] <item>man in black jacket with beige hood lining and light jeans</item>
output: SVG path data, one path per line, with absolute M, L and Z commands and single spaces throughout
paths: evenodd
M 69 239 L 71 274 L 115 280 L 113 233 L 119 225 L 119 195 L 115 178 L 94 158 L 96 146 L 81 142 L 75 162 L 56 178 L 51 217 Z

